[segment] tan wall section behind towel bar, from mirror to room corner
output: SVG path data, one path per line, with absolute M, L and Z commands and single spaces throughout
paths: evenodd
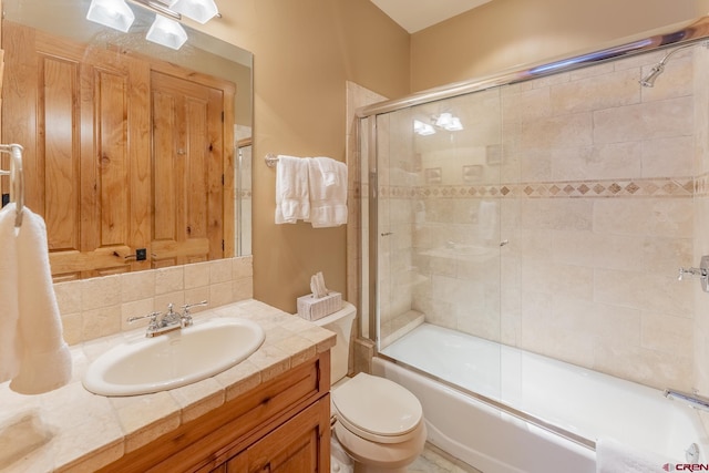
M 295 312 L 317 271 L 346 294 L 346 229 L 275 225 L 276 172 L 264 155 L 345 161 L 346 81 L 409 93 L 409 34 L 369 0 L 218 4 L 224 19 L 202 29 L 255 55 L 254 297 Z

